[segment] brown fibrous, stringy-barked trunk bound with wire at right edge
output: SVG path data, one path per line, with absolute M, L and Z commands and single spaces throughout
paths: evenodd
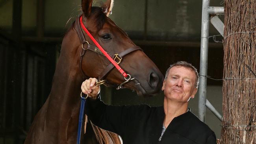
M 225 0 L 222 144 L 256 144 L 256 0 Z

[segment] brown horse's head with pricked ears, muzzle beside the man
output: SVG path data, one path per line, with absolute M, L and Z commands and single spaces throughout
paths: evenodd
M 82 0 L 82 23 L 106 52 L 120 55 L 135 48 L 136 45 L 108 17 L 112 7 L 113 0 L 107 0 L 102 7 L 92 7 L 92 0 Z M 83 32 L 83 35 L 89 44 L 94 44 L 86 33 Z M 80 50 L 82 50 L 81 45 L 82 43 L 80 43 Z M 95 51 L 97 50 L 95 49 Z M 119 66 L 131 78 L 134 78 L 133 81 L 124 84 L 125 88 L 136 90 L 137 94 L 141 96 L 151 96 L 161 90 L 163 75 L 140 48 L 127 53 L 121 60 L 117 59 L 116 61 L 121 62 Z M 125 79 L 116 68 L 112 67 L 102 76 L 102 72 L 109 64 L 110 62 L 104 55 L 97 54 L 93 50 L 86 50 L 80 65 L 81 71 L 86 76 L 105 78 L 110 84 L 120 85 Z

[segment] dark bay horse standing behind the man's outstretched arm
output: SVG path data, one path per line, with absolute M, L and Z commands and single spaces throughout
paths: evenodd
M 74 22 L 63 37 L 50 94 L 36 114 L 24 144 L 76 143 L 80 88 L 82 82 L 89 77 L 101 76 L 101 79 L 107 81 L 106 85 L 122 84 L 124 88 L 135 90 L 139 96 L 151 96 L 160 92 L 163 75 L 147 55 L 108 17 L 112 7 L 113 0 L 106 0 L 101 7 L 93 7 L 92 0 L 82 0 L 82 23 L 109 54 L 121 55 L 135 47 L 132 52 L 115 60 L 135 80 L 123 83 L 124 77 L 115 68 L 110 68 L 103 76 L 102 72 L 108 68 L 110 62 L 104 55 L 95 52 L 98 49 L 93 41 L 84 31 L 81 36 L 81 25 Z M 82 42 L 81 37 L 86 42 Z M 95 51 L 89 50 L 89 47 Z M 86 133 L 85 130 L 82 133 L 81 143 L 121 143 L 116 134 L 91 124 L 87 124 Z

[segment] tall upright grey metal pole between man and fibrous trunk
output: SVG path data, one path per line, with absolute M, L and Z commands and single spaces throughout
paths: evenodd
M 209 13 L 210 0 L 202 1 L 202 26 L 201 26 L 201 49 L 200 49 L 200 78 L 199 78 L 199 102 L 198 116 L 204 122 L 206 105 L 206 76 L 208 63 L 208 36 L 209 36 Z

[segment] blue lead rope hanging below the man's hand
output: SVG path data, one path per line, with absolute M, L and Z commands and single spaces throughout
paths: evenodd
M 81 131 L 82 131 L 82 125 L 83 125 L 83 113 L 84 113 L 85 101 L 86 101 L 86 98 L 82 97 L 82 94 L 81 94 L 81 106 L 80 106 L 80 114 L 79 114 L 78 133 L 77 133 L 76 144 L 80 144 Z

